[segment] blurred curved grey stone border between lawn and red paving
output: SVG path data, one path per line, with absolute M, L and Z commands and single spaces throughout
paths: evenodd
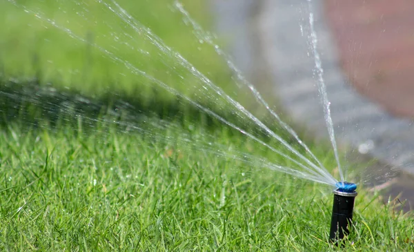
M 249 10 L 253 2 L 216 1 L 215 9 L 221 17 L 217 26 L 222 28 L 223 22 L 226 23 L 225 29 L 219 29 L 221 35 L 234 36 L 230 48 L 233 48 L 231 52 L 235 62 L 250 79 L 255 79 L 254 74 L 257 72 L 268 72 L 274 84 L 274 93 L 290 117 L 313 130 L 316 135 L 326 138 L 328 134 L 324 115 L 313 79 L 315 63 L 313 57 L 308 55 L 307 1 L 256 1 L 253 8 L 255 12 L 252 13 Z M 336 41 L 341 41 L 341 34 L 345 35 L 346 28 L 340 25 L 346 21 L 341 21 L 338 13 L 326 14 L 346 6 L 339 2 L 341 1 L 333 0 L 331 5 L 325 5 L 322 0 L 312 1 L 315 28 L 319 37 L 318 50 L 322 57 L 337 140 L 342 146 L 351 146 L 356 152 L 371 155 L 386 165 L 402 167 L 404 171 L 414 174 L 413 122 L 387 113 L 381 106 L 357 93 L 355 86 L 344 75 L 341 66 L 344 66 L 344 61 L 350 60 L 344 56 L 348 48 L 340 43 L 338 46 Z M 378 2 L 384 4 L 385 1 Z M 226 8 L 223 8 L 224 4 Z M 382 10 L 380 8 L 377 12 Z M 414 17 L 414 12 L 411 13 Z M 330 22 L 336 22 L 333 28 L 327 26 L 327 18 Z M 353 26 L 348 28 L 348 32 L 352 28 Z M 332 29 L 336 29 L 336 32 L 332 32 Z M 336 40 L 333 36 L 336 36 Z M 368 48 L 369 46 L 362 49 L 355 47 L 355 53 L 361 55 Z M 241 55 L 244 56 L 241 58 Z M 356 56 L 350 57 L 354 59 Z M 352 66 L 353 62 L 349 61 L 348 67 Z M 357 68 L 359 65 L 354 66 Z M 348 70 L 346 66 L 344 68 Z M 349 70 L 347 73 L 349 76 Z

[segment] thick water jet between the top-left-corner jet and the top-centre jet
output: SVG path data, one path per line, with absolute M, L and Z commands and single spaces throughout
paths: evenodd
M 215 91 L 215 93 L 217 93 L 217 95 L 221 95 L 221 96 L 225 97 L 227 99 L 227 101 L 230 102 L 230 104 L 235 106 L 235 108 L 237 108 L 238 110 L 242 111 L 242 113 L 246 117 L 251 119 L 253 122 L 255 122 L 262 129 L 264 129 L 266 131 L 266 133 L 268 133 L 272 137 L 275 137 L 275 139 L 277 139 L 284 146 L 286 146 L 286 148 L 288 148 L 288 150 L 290 152 L 297 155 L 297 157 L 303 159 L 308 165 L 310 165 L 313 169 L 315 169 L 315 171 L 317 171 L 319 173 L 323 173 L 324 176 L 326 176 L 326 178 L 328 180 L 335 180 L 330 173 L 326 172 L 325 169 L 319 168 L 315 164 L 313 164 L 313 162 L 311 162 L 308 158 L 304 157 L 304 155 L 300 154 L 297 150 L 295 150 L 295 148 L 290 146 L 290 144 L 288 144 L 284 139 L 279 137 L 279 135 L 276 135 L 272 130 L 270 130 L 270 128 L 268 128 L 259 119 L 257 119 L 257 117 L 255 117 L 253 114 L 248 112 L 248 110 L 246 110 L 246 108 L 244 108 L 244 106 L 242 106 L 237 101 L 235 101 L 230 96 L 228 96 L 226 93 L 224 93 L 224 91 L 221 90 L 221 88 L 215 86 L 215 84 L 213 84 L 213 82 L 211 82 L 210 79 L 208 79 L 205 75 L 203 75 L 201 72 L 199 72 L 199 70 L 197 70 L 192 64 L 190 64 L 190 62 L 188 62 L 178 52 L 175 52 L 170 47 L 166 46 L 164 41 L 162 41 L 162 39 L 157 37 L 157 35 L 154 35 L 150 30 L 148 30 L 148 28 L 146 28 L 145 26 L 142 26 L 141 23 L 139 23 L 135 19 L 133 19 L 133 17 L 130 16 L 130 14 L 128 14 L 128 12 L 126 12 L 126 10 L 121 8 L 121 6 L 119 6 L 119 4 L 115 0 L 112 0 L 112 3 L 117 7 L 119 12 L 115 11 L 110 5 L 108 5 L 108 3 L 104 2 L 104 1 L 101 1 L 101 3 L 103 3 L 109 10 L 111 10 L 119 18 L 124 20 L 136 32 L 139 32 L 139 33 L 144 32 L 146 37 L 148 39 L 150 39 L 150 41 L 152 43 L 154 43 L 155 46 L 157 46 L 162 52 L 164 52 L 164 54 L 166 56 L 171 56 L 171 55 L 174 56 L 175 59 L 179 60 L 181 66 L 185 66 L 193 75 L 195 75 L 195 77 L 197 77 L 198 79 L 201 79 L 202 81 L 204 81 L 204 84 L 207 84 L 208 87 L 212 88 Z

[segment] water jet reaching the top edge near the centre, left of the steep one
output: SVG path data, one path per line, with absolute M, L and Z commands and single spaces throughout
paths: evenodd
M 199 24 L 190 17 L 190 14 L 184 9 L 184 6 L 182 5 L 182 3 L 178 0 L 175 0 L 175 7 L 177 8 L 177 10 L 179 10 L 179 12 L 181 12 L 181 14 L 184 15 L 184 18 L 186 19 L 186 21 L 188 21 L 188 23 L 191 24 L 191 26 L 193 27 L 193 29 L 196 31 L 195 32 L 195 36 L 197 37 L 197 39 L 201 39 L 203 41 L 206 41 L 210 46 L 213 46 L 213 48 L 215 49 L 215 51 L 217 52 L 218 55 L 220 55 L 221 57 L 223 57 L 226 61 L 227 66 L 233 70 L 233 72 L 235 73 L 237 79 L 244 85 L 247 86 L 250 91 L 253 93 L 253 95 L 255 96 L 255 98 L 257 99 L 257 101 L 259 101 L 259 103 L 262 103 L 264 105 L 264 107 L 269 111 L 269 113 L 271 115 L 273 115 L 273 117 L 275 117 L 275 119 L 277 119 L 277 122 L 279 122 L 280 125 L 282 125 L 282 127 L 288 131 L 288 133 L 290 133 L 290 135 L 292 135 L 293 137 L 295 137 L 296 141 L 302 146 L 304 147 L 304 149 L 306 150 L 306 152 L 309 153 L 309 155 L 311 155 L 311 157 L 313 157 L 313 159 L 315 160 L 315 162 L 317 162 L 317 164 L 323 168 L 324 170 L 326 170 L 326 168 L 324 167 L 324 165 L 319 161 L 319 159 L 312 153 L 311 149 L 308 148 L 308 146 L 302 141 L 302 139 L 299 138 L 299 136 L 297 135 L 297 133 L 295 132 L 295 130 L 293 130 L 293 128 L 291 128 L 290 126 L 288 126 L 288 124 L 286 124 L 285 122 L 282 121 L 282 119 L 279 117 L 279 115 L 277 115 L 277 113 L 275 113 L 275 111 L 270 108 L 270 106 L 268 105 L 268 103 L 264 100 L 264 98 L 262 97 L 262 95 L 260 95 L 259 91 L 255 88 L 255 86 L 253 86 L 253 84 L 251 84 L 246 77 L 244 77 L 244 75 L 242 74 L 242 71 L 239 70 L 239 68 L 237 68 L 237 66 L 235 66 L 235 64 L 233 64 L 233 61 L 230 59 L 230 57 L 226 54 L 226 52 L 224 52 L 224 50 L 222 50 L 220 48 L 220 46 L 214 42 L 213 38 L 208 35 L 208 33 L 201 28 L 201 26 L 199 26 Z M 327 172 L 326 172 L 327 173 Z

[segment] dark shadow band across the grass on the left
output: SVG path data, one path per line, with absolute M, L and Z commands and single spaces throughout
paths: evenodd
M 52 85 L 39 84 L 36 79 L 24 83 L 0 80 L 0 126 L 5 128 L 8 124 L 17 122 L 28 129 L 59 130 L 61 126 L 68 124 L 79 128 L 81 123 L 85 133 L 88 129 L 95 130 L 101 122 L 124 130 L 126 127 L 142 125 L 148 119 L 156 119 L 157 122 L 164 121 L 157 126 L 166 126 L 161 124 L 173 122 L 176 126 L 186 128 L 197 125 L 198 128 L 206 130 L 226 130 L 228 135 L 244 135 L 181 97 L 166 98 L 165 94 L 157 95 L 157 90 L 153 90 L 152 95 L 146 94 L 111 93 L 108 90 L 99 97 L 88 97 L 76 90 L 62 90 Z M 237 117 L 232 108 L 218 108 L 213 101 L 201 105 L 264 142 L 273 140 L 273 137 L 256 124 L 246 124 Z M 297 145 L 291 135 L 277 128 L 278 125 L 269 127 L 289 144 Z

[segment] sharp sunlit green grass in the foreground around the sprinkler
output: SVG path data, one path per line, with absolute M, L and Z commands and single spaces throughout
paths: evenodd
M 337 249 L 328 242 L 328 188 L 188 151 L 176 144 L 179 129 L 160 133 L 172 137 L 165 142 L 150 137 L 155 131 L 123 134 L 104 125 L 92 134 L 20 128 L 1 132 L 2 251 Z M 244 141 L 211 134 L 228 148 Z M 412 220 L 393 211 L 393 202 L 359 194 L 345 248 L 413 249 Z

